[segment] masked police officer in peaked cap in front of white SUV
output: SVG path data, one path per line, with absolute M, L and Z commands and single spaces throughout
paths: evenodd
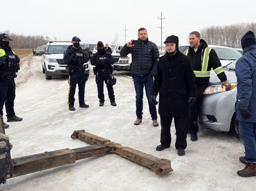
M 85 104 L 85 82 L 88 80 L 85 74 L 84 63 L 87 63 L 89 58 L 80 47 L 79 37 L 72 38 L 72 45 L 70 45 L 64 52 L 63 62 L 68 65 L 68 108 L 70 111 L 76 110 L 74 108 L 74 93 L 76 92 L 76 84 L 79 86 L 79 107 L 89 107 Z

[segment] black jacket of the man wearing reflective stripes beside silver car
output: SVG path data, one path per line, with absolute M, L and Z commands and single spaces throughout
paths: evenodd
M 189 47 L 188 54 L 187 54 L 194 71 L 201 71 L 203 53 L 205 52 L 205 48 L 208 47 L 208 44 L 206 44 L 206 42 L 203 39 L 200 40 L 200 43 L 201 44 L 197 49 L 197 52 L 195 52 L 193 48 Z M 227 80 L 225 71 L 221 68 L 221 61 L 219 60 L 218 55 L 213 49 L 210 51 L 210 54 L 209 54 L 207 71 L 210 71 L 211 69 L 214 69 L 215 71 L 218 70 L 217 75 L 218 75 L 218 78 L 221 80 L 221 82 L 224 82 Z M 219 71 L 220 69 L 221 69 L 221 72 Z M 195 77 L 195 80 L 198 87 L 203 86 L 206 88 L 209 84 L 210 77 L 209 76 Z

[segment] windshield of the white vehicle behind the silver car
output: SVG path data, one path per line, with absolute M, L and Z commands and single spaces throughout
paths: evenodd
M 237 60 L 242 56 L 238 50 L 232 48 L 218 48 L 213 47 L 220 60 Z

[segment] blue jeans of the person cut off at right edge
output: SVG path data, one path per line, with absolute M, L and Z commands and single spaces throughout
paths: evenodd
M 239 121 L 239 134 L 244 144 L 245 160 L 256 162 L 256 123 Z

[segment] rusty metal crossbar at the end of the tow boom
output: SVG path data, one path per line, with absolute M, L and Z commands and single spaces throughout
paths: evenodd
M 85 130 L 74 131 L 74 133 L 71 135 L 71 138 L 79 138 L 81 141 L 91 145 L 107 147 L 109 148 L 109 153 L 119 154 L 128 160 L 137 162 L 144 167 L 150 168 L 157 175 L 165 175 L 173 171 L 173 169 L 171 169 L 171 160 L 167 160 L 165 158 L 157 158 L 151 154 L 146 154 L 144 152 L 140 152 L 139 150 L 134 150 L 130 147 L 124 147 L 119 143 L 112 142 L 108 139 L 104 139 L 96 135 L 92 135 L 91 133 L 86 133 Z

